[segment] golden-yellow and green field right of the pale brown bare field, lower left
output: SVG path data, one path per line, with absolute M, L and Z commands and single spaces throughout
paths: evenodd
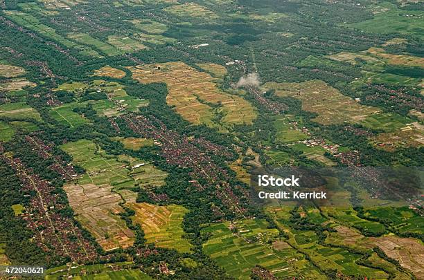
M 129 203 L 136 214 L 134 223 L 143 227 L 145 239 L 157 247 L 190 252 L 192 245 L 184 239 L 182 221 L 188 210 L 179 205 L 152 205 L 149 203 Z

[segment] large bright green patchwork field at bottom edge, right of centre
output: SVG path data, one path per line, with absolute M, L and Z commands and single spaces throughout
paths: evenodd
M 229 222 L 211 224 L 202 230 L 202 234 L 210 235 L 203 245 L 204 253 L 236 279 L 248 279 L 255 265 L 266 268 L 279 279 L 299 275 L 309 279 L 326 279 L 290 246 L 268 243 L 279 233 L 276 229 L 267 229 L 266 221 L 257 219 L 236 221 L 232 225 Z

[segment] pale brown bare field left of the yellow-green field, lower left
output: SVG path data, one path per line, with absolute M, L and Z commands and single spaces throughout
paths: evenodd
M 118 216 L 123 208 L 118 205 L 121 196 L 112 192 L 110 185 L 64 186 L 69 205 L 80 221 L 104 250 L 128 248 L 134 243 L 134 232 Z

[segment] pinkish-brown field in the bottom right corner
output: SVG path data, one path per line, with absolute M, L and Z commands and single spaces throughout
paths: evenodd
M 424 279 L 424 245 L 413 238 L 397 236 L 371 237 L 365 244 L 369 248 L 378 246 L 400 265 L 412 271 L 417 279 Z

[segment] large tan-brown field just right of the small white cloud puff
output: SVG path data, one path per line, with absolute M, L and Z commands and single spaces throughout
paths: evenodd
M 279 96 L 290 96 L 302 101 L 302 109 L 317 113 L 316 122 L 342 124 L 360 122 L 380 109 L 358 104 L 351 97 L 339 93 L 336 88 L 323 81 L 312 80 L 302 83 L 268 82 L 263 88 L 275 88 Z

